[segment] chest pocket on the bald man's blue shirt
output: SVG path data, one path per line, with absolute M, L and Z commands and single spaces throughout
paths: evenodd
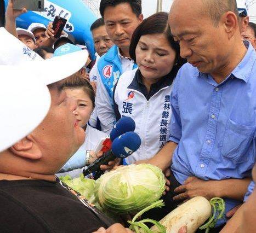
M 221 154 L 226 159 L 234 162 L 248 161 L 252 156 L 252 149 L 249 149 L 255 134 L 255 127 L 246 126 L 227 120 L 227 125 L 221 147 Z

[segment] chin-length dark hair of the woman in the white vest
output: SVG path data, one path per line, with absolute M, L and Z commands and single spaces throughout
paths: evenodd
M 175 77 L 179 68 L 183 66 L 184 63 L 186 63 L 186 60 L 180 56 L 180 45 L 173 39 L 173 35 L 170 31 L 170 27 L 167 21 L 168 13 L 158 12 L 156 14 L 151 15 L 143 22 L 141 22 L 141 24 L 133 32 L 132 39 L 130 40 L 129 54 L 130 58 L 136 62 L 135 50 L 140 40 L 140 37 L 149 34 L 163 33 L 164 36 L 166 36 L 169 45 L 171 46 L 171 48 L 173 48 L 173 50 L 176 53 L 175 66 L 172 69 L 172 73 L 174 74 Z

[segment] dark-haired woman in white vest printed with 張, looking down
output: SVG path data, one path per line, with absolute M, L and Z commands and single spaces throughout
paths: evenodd
M 167 20 L 167 13 L 156 13 L 136 28 L 129 52 L 138 68 L 123 73 L 114 89 L 116 120 L 132 117 L 141 138 L 141 147 L 126 164 L 152 158 L 169 138 L 170 92 L 185 60 Z

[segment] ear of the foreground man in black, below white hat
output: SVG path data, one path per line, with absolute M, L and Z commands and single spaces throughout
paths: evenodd
M 17 156 L 37 160 L 42 158 L 41 149 L 39 149 L 38 145 L 33 141 L 33 137 L 28 135 L 22 138 L 19 142 L 15 143 L 10 150 Z

